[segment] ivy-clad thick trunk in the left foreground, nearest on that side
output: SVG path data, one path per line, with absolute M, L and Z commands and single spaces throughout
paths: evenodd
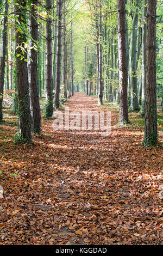
M 27 1 L 16 0 L 16 28 L 20 24 L 26 25 L 26 8 Z M 24 26 L 21 27 L 22 31 Z M 26 29 L 26 28 L 25 28 Z M 30 116 L 30 103 L 29 103 L 29 83 L 28 83 L 28 70 L 27 70 L 27 52 L 22 54 L 24 42 L 27 41 L 26 33 L 16 31 L 16 69 L 17 69 L 17 89 L 18 89 L 18 117 L 19 117 L 19 137 L 22 142 L 30 141 L 31 134 L 31 116 Z M 21 58 L 23 56 L 23 58 Z

